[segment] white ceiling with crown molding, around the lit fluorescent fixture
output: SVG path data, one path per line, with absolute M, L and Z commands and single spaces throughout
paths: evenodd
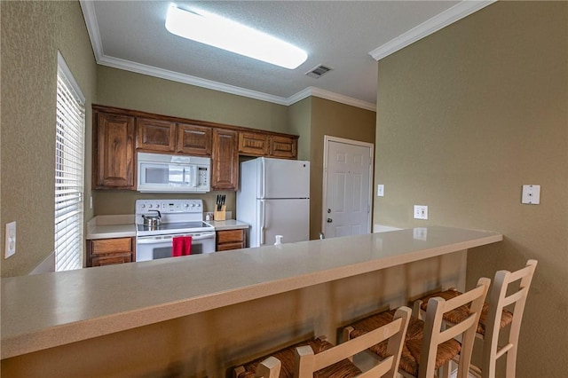
M 481 1 L 88 1 L 97 62 L 290 105 L 310 95 L 375 110 L 377 60 L 491 4 Z M 171 35 L 171 3 L 280 37 L 308 52 L 289 70 Z M 324 64 L 318 79 L 304 75 Z

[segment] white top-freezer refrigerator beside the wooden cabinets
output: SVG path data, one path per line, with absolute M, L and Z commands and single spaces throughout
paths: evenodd
M 256 158 L 241 162 L 237 219 L 250 224 L 248 246 L 310 239 L 310 161 Z

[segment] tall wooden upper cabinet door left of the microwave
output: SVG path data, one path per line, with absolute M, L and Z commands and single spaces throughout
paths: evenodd
M 134 190 L 134 117 L 98 113 L 93 146 L 93 187 Z

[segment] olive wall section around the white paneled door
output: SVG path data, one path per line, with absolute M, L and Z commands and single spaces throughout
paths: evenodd
M 375 112 L 338 104 L 323 98 L 312 98 L 312 129 L 310 144 L 310 236 L 318 239 L 321 232 L 323 185 L 323 138 L 337 138 L 375 143 Z M 373 180 L 371 179 L 371 182 Z

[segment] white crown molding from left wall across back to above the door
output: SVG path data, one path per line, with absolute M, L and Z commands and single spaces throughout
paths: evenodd
M 180 74 L 163 68 L 147 66 L 140 63 L 132 62 L 130 60 L 117 59 L 114 57 L 106 56 L 103 51 L 102 42 L 100 39 L 99 22 L 97 21 L 97 16 L 95 13 L 94 2 L 88 0 L 79 0 L 79 4 L 81 4 L 81 9 L 83 11 L 83 17 L 85 19 L 87 31 L 89 33 L 89 37 L 91 38 L 91 45 L 93 53 L 95 55 L 95 59 L 97 61 L 97 64 L 101 66 L 114 67 L 130 72 L 135 72 L 137 74 L 150 75 L 178 83 L 190 84 L 201 88 L 207 88 L 213 91 L 222 91 L 225 93 L 231 93 L 234 95 L 243 96 L 247 98 L 255 98 L 261 101 L 272 102 L 274 104 L 279 104 L 284 106 L 290 106 L 304 98 L 315 96 L 319 98 L 326 98 L 345 105 L 356 106 L 374 112 L 376 111 L 376 104 L 369 103 L 367 101 L 361 101 L 356 98 L 343 96 L 331 91 L 320 90 L 319 88 L 315 87 L 308 87 L 303 91 L 299 91 L 295 95 L 290 96 L 289 98 L 283 98 L 279 96 L 273 96 L 264 92 L 250 91 L 233 85 L 201 79 L 200 77 L 195 77 L 192 75 Z

